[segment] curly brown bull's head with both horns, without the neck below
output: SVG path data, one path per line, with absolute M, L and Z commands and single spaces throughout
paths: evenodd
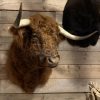
M 59 62 L 57 46 L 63 36 L 73 40 L 83 40 L 90 37 L 75 36 L 60 27 L 52 18 L 36 14 L 28 19 L 21 19 L 22 4 L 14 24 L 9 28 L 17 47 L 31 56 L 39 59 L 41 66 L 55 67 Z

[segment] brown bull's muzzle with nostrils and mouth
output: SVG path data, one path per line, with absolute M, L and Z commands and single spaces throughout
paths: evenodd
M 48 66 L 50 68 L 54 68 L 58 65 L 58 62 L 60 60 L 60 56 L 44 56 L 40 55 L 39 56 L 39 61 L 41 66 Z

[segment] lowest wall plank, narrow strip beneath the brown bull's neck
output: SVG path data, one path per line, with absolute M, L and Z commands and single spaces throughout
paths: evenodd
M 1 100 L 85 100 L 85 93 L 64 94 L 0 94 Z

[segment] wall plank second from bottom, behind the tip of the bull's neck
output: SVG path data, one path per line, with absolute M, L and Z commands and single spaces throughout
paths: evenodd
M 24 93 L 9 80 L 0 81 L 0 93 Z M 37 87 L 34 93 L 89 92 L 90 81 L 100 84 L 100 79 L 49 79 L 44 86 Z

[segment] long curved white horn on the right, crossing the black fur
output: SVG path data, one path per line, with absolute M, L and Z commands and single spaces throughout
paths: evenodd
M 76 36 L 76 35 L 72 35 L 71 33 L 67 32 L 66 30 L 64 30 L 61 26 L 58 26 L 58 27 L 60 29 L 60 33 L 71 40 L 84 40 L 98 32 L 98 31 L 94 31 L 91 34 L 86 35 L 86 36 Z

